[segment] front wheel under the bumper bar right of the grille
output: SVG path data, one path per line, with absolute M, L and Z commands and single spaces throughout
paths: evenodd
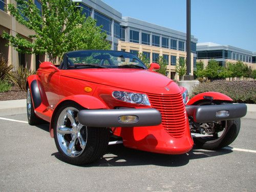
M 203 102 L 198 105 L 216 103 Z M 195 144 L 205 150 L 218 150 L 231 144 L 240 131 L 240 119 L 231 119 L 218 122 L 194 123 L 190 122 L 191 133 L 199 133 L 202 137 L 194 137 Z

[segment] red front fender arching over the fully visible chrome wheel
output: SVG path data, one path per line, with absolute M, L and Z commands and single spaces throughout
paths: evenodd
M 62 104 L 65 104 L 66 102 L 69 102 L 69 101 L 76 102 L 85 109 L 90 109 L 90 110 L 108 109 L 108 106 L 106 106 L 106 104 L 103 103 L 103 101 L 99 100 L 96 97 L 90 96 L 90 95 L 71 95 L 71 96 L 61 99 L 58 102 L 58 104 L 56 105 L 56 108 L 54 109 L 52 117 L 51 117 L 50 134 L 51 134 L 52 138 L 53 138 L 53 121 L 55 118 L 55 114 Z

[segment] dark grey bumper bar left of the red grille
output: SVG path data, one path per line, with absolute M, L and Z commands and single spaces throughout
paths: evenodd
M 137 116 L 136 122 L 124 123 L 120 116 Z M 78 121 L 86 126 L 95 127 L 131 127 L 153 126 L 162 122 L 161 114 L 156 109 L 116 109 L 116 110 L 81 110 Z

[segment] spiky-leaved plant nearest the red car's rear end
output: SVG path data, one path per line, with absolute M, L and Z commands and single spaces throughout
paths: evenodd
M 15 72 L 9 74 L 9 79 L 17 86 L 20 90 L 26 90 L 26 81 L 28 76 L 35 74 L 35 71 L 31 71 L 28 68 L 20 66 Z

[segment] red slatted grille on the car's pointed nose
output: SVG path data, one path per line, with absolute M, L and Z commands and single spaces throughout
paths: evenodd
M 181 94 L 157 95 L 147 94 L 153 108 L 162 115 L 162 125 L 172 137 L 179 138 L 185 132 L 185 106 Z

